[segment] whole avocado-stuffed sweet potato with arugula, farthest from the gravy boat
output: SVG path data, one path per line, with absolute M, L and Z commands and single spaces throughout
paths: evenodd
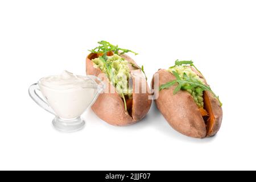
M 174 67 L 159 69 L 156 106 L 179 133 L 193 138 L 215 135 L 221 127 L 222 108 L 205 78 L 192 61 L 176 61 Z

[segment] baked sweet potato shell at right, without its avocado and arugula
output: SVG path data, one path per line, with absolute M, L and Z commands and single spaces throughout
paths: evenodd
M 199 77 L 204 77 L 195 69 Z M 175 76 L 165 69 L 159 69 L 159 86 L 175 80 Z M 154 75 L 155 77 L 156 75 Z M 154 77 L 152 88 L 154 89 Z M 205 84 L 207 82 L 205 81 Z M 199 109 L 191 94 L 180 90 L 174 94 L 177 85 L 161 90 L 155 100 L 156 106 L 167 122 L 179 133 L 193 138 L 205 138 L 215 135 L 221 127 L 222 108 L 212 93 L 204 91 L 204 108 Z

